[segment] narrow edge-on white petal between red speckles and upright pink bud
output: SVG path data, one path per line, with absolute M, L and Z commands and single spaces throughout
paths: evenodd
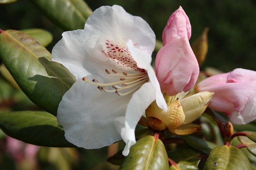
M 167 111 L 167 104 L 166 104 L 166 102 L 164 100 L 164 96 L 161 92 L 160 85 L 156 78 L 154 69 L 151 66 L 151 61 L 152 61 L 151 55 L 134 47 L 131 40 L 129 40 L 126 45 L 128 47 L 128 50 L 132 54 L 134 61 L 136 61 L 137 66 L 139 68 L 143 68 L 143 69 L 147 70 L 149 80 L 150 80 L 152 86 L 154 86 L 154 88 L 156 89 L 156 103 L 157 103 L 158 107 L 160 107 L 164 111 Z

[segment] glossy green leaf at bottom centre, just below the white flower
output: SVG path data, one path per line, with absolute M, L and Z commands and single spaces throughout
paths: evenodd
M 168 156 L 157 135 L 136 142 L 124 158 L 120 170 L 168 170 Z

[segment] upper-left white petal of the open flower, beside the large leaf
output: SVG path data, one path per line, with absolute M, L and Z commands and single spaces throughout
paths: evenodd
M 77 79 L 90 74 L 105 74 L 106 63 L 86 53 L 84 30 L 67 31 L 62 33 L 62 36 L 62 39 L 52 49 L 53 61 L 64 65 Z

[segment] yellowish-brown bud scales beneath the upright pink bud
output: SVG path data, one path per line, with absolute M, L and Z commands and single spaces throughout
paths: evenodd
M 200 92 L 194 95 L 179 93 L 176 96 L 165 95 L 168 111 L 160 109 L 156 102 L 153 102 L 146 109 L 146 120 L 148 125 L 158 131 L 168 129 L 177 135 L 188 135 L 202 127 L 192 124 L 210 104 L 214 93 Z

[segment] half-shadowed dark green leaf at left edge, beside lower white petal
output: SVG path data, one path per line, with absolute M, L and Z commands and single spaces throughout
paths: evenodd
M 45 111 L 0 113 L 0 128 L 20 141 L 46 147 L 74 147 L 54 115 Z

